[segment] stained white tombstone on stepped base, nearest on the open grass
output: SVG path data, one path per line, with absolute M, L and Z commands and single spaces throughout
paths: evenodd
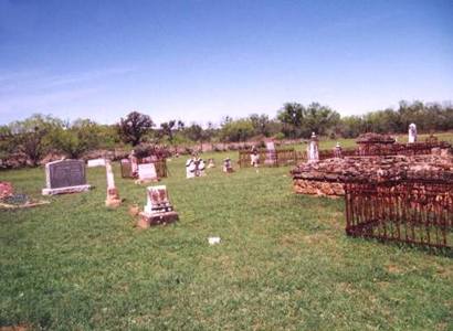
M 150 225 L 166 224 L 178 220 L 178 213 L 171 206 L 166 185 L 148 186 L 146 193 L 146 206 L 139 214 L 140 218 L 137 223 L 139 227 L 147 228 Z

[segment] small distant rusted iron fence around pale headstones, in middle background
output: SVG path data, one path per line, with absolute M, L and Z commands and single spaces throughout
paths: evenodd
M 238 163 L 241 168 L 252 167 L 251 164 L 251 151 L 240 150 Z M 296 151 L 294 148 L 266 150 L 260 149 L 259 164 L 260 167 L 281 167 L 281 166 L 294 166 L 298 162 L 306 160 L 306 153 Z

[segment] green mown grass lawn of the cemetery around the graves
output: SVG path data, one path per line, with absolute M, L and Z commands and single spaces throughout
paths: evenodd
M 235 152 L 217 153 L 217 163 Z M 288 168 L 186 180 L 169 162 L 180 221 L 140 231 L 145 186 L 105 169 L 87 193 L 0 211 L 0 325 L 51 330 L 453 330 L 453 260 L 345 235 L 343 200 L 295 195 Z M 0 172 L 39 196 L 44 170 Z M 217 246 L 209 236 L 220 236 Z

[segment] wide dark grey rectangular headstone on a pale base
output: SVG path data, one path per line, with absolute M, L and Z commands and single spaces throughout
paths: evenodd
M 88 191 L 86 183 L 85 162 L 82 160 L 61 160 L 45 164 L 46 188 L 43 195 L 75 193 Z

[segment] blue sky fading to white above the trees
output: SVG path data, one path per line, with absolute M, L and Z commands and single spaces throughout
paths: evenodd
M 0 0 L 0 124 L 452 100 L 452 0 Z

